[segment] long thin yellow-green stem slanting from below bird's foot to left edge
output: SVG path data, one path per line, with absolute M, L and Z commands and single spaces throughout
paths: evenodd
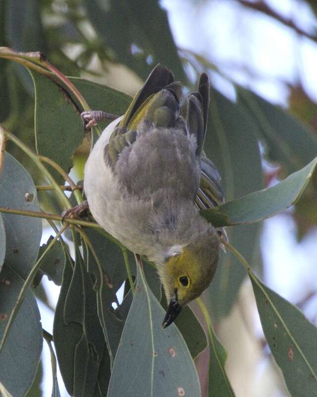
M 21 304 L 23 302 L 24 295 L 25 295 L 26 291 L 28 290 L 28 288 L 30 287 L 30 285 L 32 284 L 33 278 L 34 278 L 35 274 L 37 273 L 37 271 L 38 271 L 38 269 L 39 269 L 39 267 L 41 265 L 42 259 L 52 249 L 52 247 L 55 244 L 55 242 L 58 239 L 58 237 L 61 236 L 62 233 L 64 233 L 64 231 L 67 229 L 67 227 L 68 227 L 68 225 L 64 225 L 60 229 L 60 231 L 56 234 L 56 236 L 53 238 L 51 243 L 47 246 L 46 250 L 43 252 L 41 257 L 36 261 L 35 265 L 32 267 L 32 270 L 30 271 L 29 275 L 27 276 L 26 280 L 24 281 L 24 284 L 23 284 L 23 286 L 21 288 L 21 291 L 20 291 L 20 293 L 18 295 L 17 301 L 16 301 L 16 303 L 14 305 L 14 308 L 13 308 L 11 314 L 10 314 L 9 320 L 8 320 L 8 322 L 6 324 L 6 327 L 5 327 L 3 336 L 2 336 L 2 340 L 0 342 L 0 350 L 3 347 L 3 345 L 4 345 L 4 342 L 5 342 L 6 338 L 7 338 L 9 330 L 10 330 L 10 328 L 12 326 L 12 323 L 13 323 L 13 321 L 15 319 L 15 316 L 16 316 L 16 314 L 17 314 L 17 312 L 18 312 L 18 310 L 19 310 L 19 308 L 20 308 L 20 306 L 21 306 Z

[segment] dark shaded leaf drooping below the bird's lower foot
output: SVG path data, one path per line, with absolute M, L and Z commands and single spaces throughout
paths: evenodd
M 67 273 L 65 274 L 67 277 Z M 64 301 L 61 301 L 63 316 L 58 313 L 58 320 L 54 321 L 56 353 L 63 360 L 63 364 L 67 365 L 65 367 L 60 366 L 61 372 L 66 371 L 67 391 L 71 392 L 70 394 L 74 397 L 93 397 L 99 388 L 99 367 L 104 356 L 105 339 L 97 314 L 97 296 L 93 289 L 94 283 L 87 272 L 87 266 L 84 265 L 77 242 L 75 244 L 75 267 L 71 279 L 69 279 L 69 275 L 70 273 L 67 278 L 65 277 L 65 285 L 68 284 L 67 294 L 66 296 L 63 294 Z M 77 327 L 76 339 L 68 339 L 71 346 L 68 345 L 67 350 L 68 352 L 70 350 L 72 354 L 70 359 L 65 360 L 65 353 L 61 351 L 62 347 L 65 348 L 65 346 L 60 340 L 60 331 L 68 325 L 73 331 L 73 323 L 82 327 L 80 329 Z M 80 339 L 78 340 L 79 334 Z

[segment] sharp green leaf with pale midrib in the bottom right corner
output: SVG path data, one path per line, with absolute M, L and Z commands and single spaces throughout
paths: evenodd
M 292 397 L 317 396 L 317 328 L 249 271 L 264 334 Z

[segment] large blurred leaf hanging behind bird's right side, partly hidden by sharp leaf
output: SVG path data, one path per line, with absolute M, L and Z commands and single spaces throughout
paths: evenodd
M 220 172 L 226 200 L 263 188 L 257 128 L 244 109 L 211 90 L 204 150 Z M 255 224 L 227 230 L 231 244 L 249 261 L 257 250 L 260 228 L 260 224 Z M 208 288 L 208 306 L 216 319 L 229 313 L 244 278 L 245 272 L 236 258 L 221 255 L 215 278 Z

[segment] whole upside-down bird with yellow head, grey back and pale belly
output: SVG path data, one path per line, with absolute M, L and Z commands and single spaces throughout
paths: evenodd
M 223 202 L 220 176 L 203 153 L 210 85 L 206 73 L 187 97 L 158 65 L 126 114 L 96 142 L 85 166 L 91 213 L 112 236 L 156 264 L 169 303 L 163 327 L 197 298 L 214 276 L 220 240 L 199 215 Z M 86 112 L 87 120 L 102 112 Z

